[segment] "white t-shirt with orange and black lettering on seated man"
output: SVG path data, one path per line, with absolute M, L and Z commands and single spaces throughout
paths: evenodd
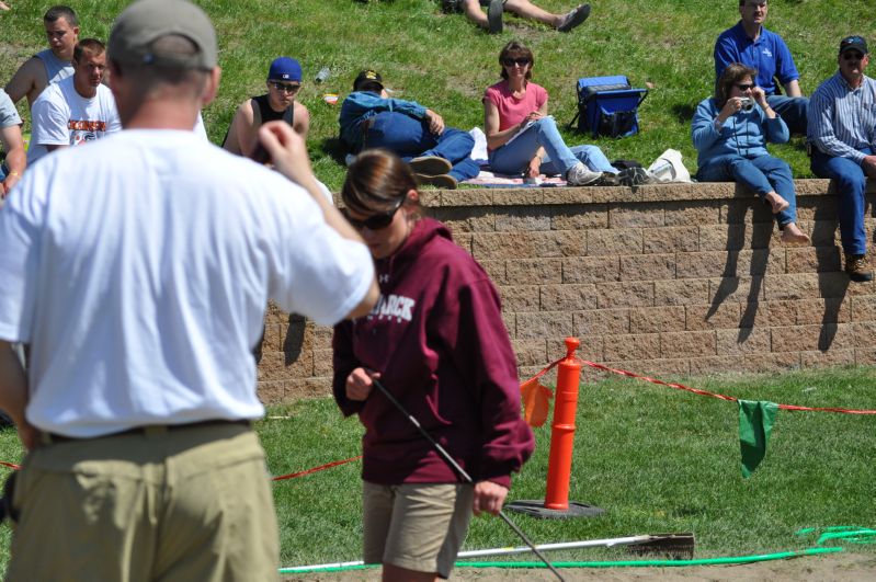
M 80 146 L 122 129 L 113 92 L 104 84 L 91 99 L 80 95 L 73 78 L 48 85 L 31 109 L 27 166 L 48 153 L 46 146 Z

